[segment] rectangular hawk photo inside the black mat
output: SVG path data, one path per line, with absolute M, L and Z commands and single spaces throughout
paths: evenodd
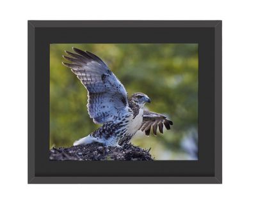
M 198 160 L 198 44 L 51 44 L 52 161 Z

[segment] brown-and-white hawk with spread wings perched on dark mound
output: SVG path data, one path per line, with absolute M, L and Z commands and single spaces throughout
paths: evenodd
M 96 124 L 103 124 L 74 145 L 99 142 L 105 146 L 122 147 L 139 129 L 145 131 L 147 136 L 151 128 L 154 135 L 157 134 L 157 127 L 160 133 L 163 133 L 163 125 L 170 129 L 173 123 L 164 115 L 143 110 L 145 103 L 150 103 L 146 94 L 136 92 L 128 98 L 124 85 L 105 62 L 91 52 L 72 49 L 74 53 L 65 51 L 68 56 L 63 55 L 69 62 L 62 63 L 87 89 L 90 118 Z

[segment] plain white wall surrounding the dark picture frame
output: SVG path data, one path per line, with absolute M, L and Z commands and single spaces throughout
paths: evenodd
M 253 1 L 2 1 L 0 15 L 3 203 L 255 203 Z M 223 20 L 223 184 L 28 185 L 29 19 Z

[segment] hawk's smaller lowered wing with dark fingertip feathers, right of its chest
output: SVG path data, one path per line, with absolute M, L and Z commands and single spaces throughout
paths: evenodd
M 171 120 L 166 119 L 163 114 L 149 112 L 144 110 L 143 112 L 143 122 L 140 130 L 145 131 L 146 135 L 150 134 L 150 129 L 152 127 L 154 135 L 157 133 L 157 126 L 159 128 L 160 133 L 163 133 L 163 125 L 166 129 L 171 129 L 173 122 Z

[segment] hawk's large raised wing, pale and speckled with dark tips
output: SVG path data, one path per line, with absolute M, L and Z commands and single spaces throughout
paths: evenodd
M 115 120 L 118 113 L 128 106 L 124 85 L 109 70 L 108 66 L 96 55 L 73 48 L 65 51 L 69 56 L 62 62 L 79 78 L 88 91 L 88 113 L 95 123 Z

